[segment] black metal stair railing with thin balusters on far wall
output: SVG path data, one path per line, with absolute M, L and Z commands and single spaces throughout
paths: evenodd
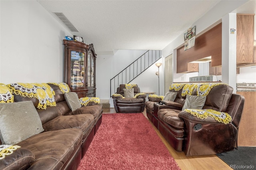
M 120 84 L 130 83 L 151 65 L 156 63 L 161 56 L 161 50 L 148 50 L 125 69 L 120 71 L 120 73 L 110 79 L 110 97 L 112 94 L 116 93 L 116 89 Z

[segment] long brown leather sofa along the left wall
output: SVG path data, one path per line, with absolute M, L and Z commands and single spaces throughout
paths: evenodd
M 44 131 L 17 143 L 21 148 L 1 159 L 0 169 L 78 168 L 102 122 L 102 104 L 71 111 L 60 88 L 51 83 L 48 85 L 55 91 L 56 106 L 36 109 Z M 20 101 L 32 101 L 35 107 L 38 105 L 36 98 L 14 94 L 14 102 Z

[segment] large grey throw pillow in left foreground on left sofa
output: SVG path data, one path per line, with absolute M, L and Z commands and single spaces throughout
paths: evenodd
M 0 103 L 0 139 L 16 144 L 44 131 L 32 101 Z

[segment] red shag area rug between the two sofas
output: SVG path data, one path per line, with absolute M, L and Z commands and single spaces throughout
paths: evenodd
M 180 170 L 142 113 L 102 114 L 78 170 Z

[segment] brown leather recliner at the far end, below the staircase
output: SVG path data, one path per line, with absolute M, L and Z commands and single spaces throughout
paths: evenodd
M 138 85 L 132 88 L 134 89 L 134 96 L 136 97 L 123 98 L 125 96 L 125 84 L 120 84 L 116 90 L 116 94 L 112 95 L 114 108 L 117 113 L 138 113 L 144 111 L 146 94 L 140 93 L 140 87 L 138 87 Z

